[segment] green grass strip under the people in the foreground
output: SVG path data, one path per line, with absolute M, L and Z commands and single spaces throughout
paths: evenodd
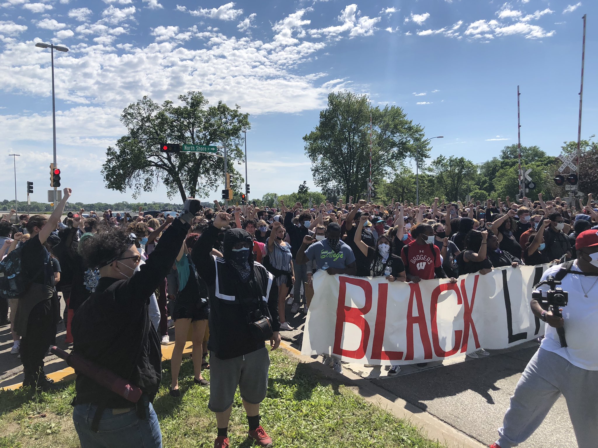
M 193 364 L 186 359 L 179 379 L 182 396 L 170 397 L 170 363 L 163 363 L 163 369 L 154 407 L 164 447 L 212 447 L 216 419 L 208 410 L 209 388 L 193 385 Z M 0 391 L 0 448 L 78 447 L 71 420 L 73 396 L 73 382 L 39 395 L 22 389 Z M 42 412 L 45 418 L 29 418 Z M 277 447 L 442 447 L 349 388 L 319 377 L 284 351 L 271 353 L 268 395 L 260 414 Z M 228 433 L 231 447 L 251 446 L 238 391 Z

